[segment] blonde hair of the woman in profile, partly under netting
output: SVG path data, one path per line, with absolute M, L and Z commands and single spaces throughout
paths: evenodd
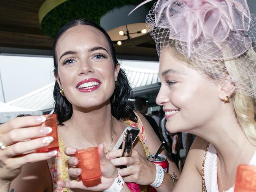
M 212 62 L 200 59 L 200 62 L 194 62 L 194 60 L 188 59 L 186 56 L 180 54 L 175 46 L 175 41 L 169 42 L 166 45 L 171 51 L 173 57 L 179 59 L 180 61 L 184 61 L 189 64 L 190 67 L 200 70 L 203 74 L 208 75 L 213 81 L 221 80 L 222 74 L 228 74 L 229 76 L 234 79 L 234 84 L 237 88 L 237 83 L 239 83 L 239 89 L 249 89 L 254 90 L 256 92 L 256 82 L 255 78 L 246 75 L 245 73 L 249 72 L 252 73 L 256 69 L 252 70 L 252 66 L 256 63 L 256 52 L 253 48 L 250 48 L 245 54 L 241 55 L 232 60 L 228 61 L 219 61 L 216 67 L 216 61 Z M 165 47 L 166 46 L 162 46 Z M 208 63 L 207 65 L 205 65 Z M 247 63 L 248 65 L 245 65 Z M 214 65 L 214 66 L 211 66 Z M 200 65 L 200 66 L 199 66 Z M 202 67 L 201 65 L 205 65 Z M 214 68 L 212 70 L 211 68 Z M 241 75 L 242 74 L 242 75 Z M 241 88 L 241 86 L 244 86 Z M 251 144 L 256 144 L 256 98 L 245 94 L 244 91 L 235 90 L 234 94 L 231 97 L 232 103 L 234 106 L 234 113 L 236 115 L 237 121 L 239 122 L 241 129 L 243 130 L 244 134 L 248 138 Z

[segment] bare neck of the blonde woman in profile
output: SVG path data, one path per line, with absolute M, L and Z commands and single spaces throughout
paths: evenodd
M 230 105 L 232 104 L 230 103 Z M 247 137 L 243 133 L 232 107 L 217 111 L 215 114 L 206 125 L 198 127 L 191 133 L 193 132 L 192 134 L 213 144 L 220 161 L 230 166 L 230 162 L 235 161 L 234 159 L 239 155 Z

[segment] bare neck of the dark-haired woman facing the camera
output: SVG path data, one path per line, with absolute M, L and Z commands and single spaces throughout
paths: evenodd
M 110 140 L 113 132 L 110 101 L 86 109 L 73 106 L 73 114 L 67 123 L 70 129 L 74 129 L 74 132 L 79 131 L 95 145 Z M 100 134 L 102 132 L 104 134 Z

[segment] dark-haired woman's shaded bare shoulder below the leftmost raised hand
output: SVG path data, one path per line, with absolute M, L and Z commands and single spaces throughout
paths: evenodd
M 15 192 L 50 192 L 52 179 L 47 161 L 22 166 L 20 175 L 11 182 Z

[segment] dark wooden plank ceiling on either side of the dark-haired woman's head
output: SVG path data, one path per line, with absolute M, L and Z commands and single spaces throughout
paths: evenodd
M 4 2 L 4 3 L 3 3 Z M 0 4 L 0 47 L 52 50 L 54 39 L 43 34 L 38 10 L 45 0 L 8 0 Z M 158 58 L 149 34 L 115 45 L 118 55 Z M 7 49 L 1 50 L 4 53 Z M 8 52 L 11 53 L 11 52 Z M 17 54 L 17 51 L 13 52 Z M 34 54 L 31 52 L 31 54 Z

